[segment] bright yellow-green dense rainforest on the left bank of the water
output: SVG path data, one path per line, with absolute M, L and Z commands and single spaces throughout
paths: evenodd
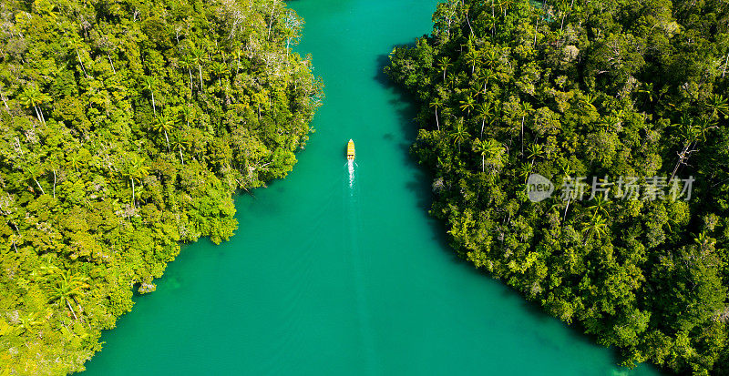
M 83 370 L 232 194 L 282 178 L 321 85 L 280 0 L 0 0 L 0 374 Z

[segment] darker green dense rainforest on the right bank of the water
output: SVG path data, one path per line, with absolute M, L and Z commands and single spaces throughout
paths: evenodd
M 433 20 L 385 71 L 419 101 L 457 253 L 625 365 L 729 374 L 729 2 L 448 0 Z

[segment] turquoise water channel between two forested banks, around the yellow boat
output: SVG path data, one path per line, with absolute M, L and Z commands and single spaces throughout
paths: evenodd
M 182 250 L 86 374 L 656 375 L 458 260 L 427 217 L 413 109 L 380 72 L 436 1 L 288 4 L 326 85 L 316 133 L 289 178 L 237 199 L 231 241 Z

